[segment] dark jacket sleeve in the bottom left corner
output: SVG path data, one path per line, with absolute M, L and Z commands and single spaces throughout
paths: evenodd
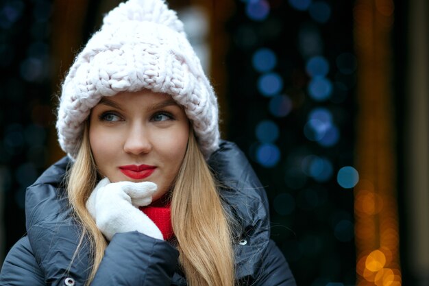
M 3 286 L 44 286 L 43 274 L 34 258 L 28 237 L 15 243 L 6 256 L 0 272 Z

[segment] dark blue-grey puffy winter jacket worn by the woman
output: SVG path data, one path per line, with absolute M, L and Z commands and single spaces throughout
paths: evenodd
M 225 186 L 221 196 L 241 226 L 234 245 L 240 285 L 294 286 L 289 265 L 269 239 L 265 190 L 243 153 L 223 141 L 209 164 Z M 63 158 L 27 189 L 27 236 L 8 253 L 0 285 L 84 285 L 90 272 L 89 246 L 84 241 L 71 263 L 80 235 L 64 195 L 68 166 L 69 159 Z M 186 285 L 177 257 L 168 241 L 137 232 L 117 233 L 91 285 Z

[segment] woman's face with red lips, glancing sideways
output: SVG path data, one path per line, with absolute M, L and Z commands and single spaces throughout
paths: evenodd
M 170 189 L 186 152 L 188 118 L 170 95 L 143 90 L 103 97 L 91 110 L 95 164 L 110 182 L 150 181 L 153 201 Z

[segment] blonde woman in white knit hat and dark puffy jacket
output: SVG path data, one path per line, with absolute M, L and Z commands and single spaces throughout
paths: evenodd
M 1 285 L 295 285 L 265 191 L 162 0 L 106 15 L 62 86 L 68 154 L 27 189 Z

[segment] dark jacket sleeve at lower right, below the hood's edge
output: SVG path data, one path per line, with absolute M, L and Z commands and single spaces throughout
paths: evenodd
M 256 275 L 255 286 L 296 286 L 289 264 L 282 252 L 270 240 L 263 253 L 262 266 Z

